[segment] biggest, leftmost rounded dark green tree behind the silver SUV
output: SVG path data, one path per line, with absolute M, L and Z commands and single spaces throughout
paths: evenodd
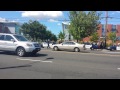
M 21 31 L 25 36 L 29 35 L 33 40 L 37 41 L 38 39 L 43 38 L 42 35 L 46 33 L 46 26 L 38 21 L 30 20 L 28 23 L 24 23 L 21 26 Z

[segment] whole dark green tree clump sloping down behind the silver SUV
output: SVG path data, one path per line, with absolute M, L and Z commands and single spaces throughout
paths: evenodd
M 20 31 L 23 32 L 26 37 L 29 37 L 34 41 L 44 41 L 48 39 L 57 41 L 56 35 L 54 35 L 51 31 L 47 30 L 46 26 L 39 23 L 38 21 L 30 20 L 28 23 L 24 23 L 21 26 Z

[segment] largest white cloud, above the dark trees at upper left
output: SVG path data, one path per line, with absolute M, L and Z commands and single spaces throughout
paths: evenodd
M 22 17 L 35 18 L 35 19 L 50 19 L 63 16 L 62 11 L 19 11 Z

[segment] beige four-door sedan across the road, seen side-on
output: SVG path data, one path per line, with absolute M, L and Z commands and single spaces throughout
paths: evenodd
M 69 51 L 75 51 L 80 52 L 80 50 L 83 49 L 84 44 L 78 44 L 74 41 L 66 41 L 61 44 L 54 44 L 52 45 L 52 49 L 55 51 L 58 50 L 69 50 Z

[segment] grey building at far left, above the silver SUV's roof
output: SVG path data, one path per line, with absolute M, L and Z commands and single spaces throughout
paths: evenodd
M 17 22 L 0 22 L 0 33 L 20 34 L 20 24 Z

